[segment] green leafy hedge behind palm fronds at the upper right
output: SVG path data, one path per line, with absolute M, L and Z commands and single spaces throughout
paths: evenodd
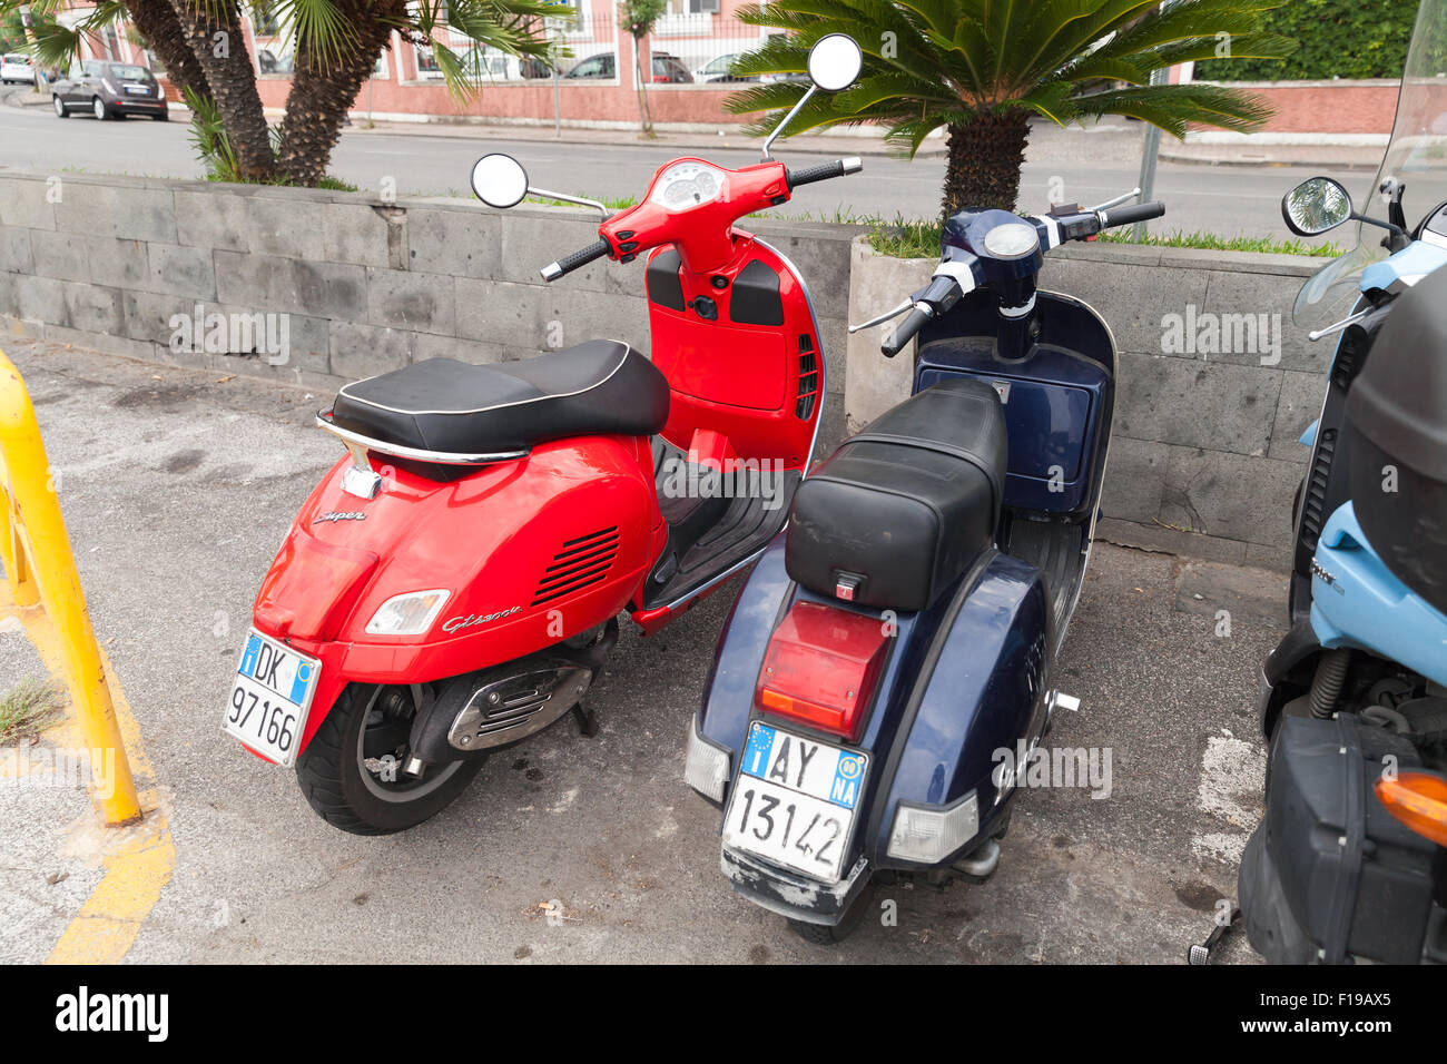
M 1198 81 L 1330 81 L 1399 78 L 1412 39 L 1409 0 L 1291 0 L 1266 29 L 1299 42 L 1285 59 L 1205 59 Z

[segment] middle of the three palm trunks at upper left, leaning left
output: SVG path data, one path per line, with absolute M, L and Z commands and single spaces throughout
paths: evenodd
M 271 129 L 256 91 L 256 69 L 246 49 L 237 0 L 168 0 L 191 46 L 191 54 L 205 72 L 226 135 L 236 152 L 237 169 L 247 181 L 268 181 L 276 175 Z M 224 36 L 218 36 L 224 35 Z

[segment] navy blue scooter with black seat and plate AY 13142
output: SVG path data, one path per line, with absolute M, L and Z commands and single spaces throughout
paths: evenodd
M 984 880 L 1052 717 L 1110 442 L 1116 347 L 1037 291 L 1045 252 L 1159 203 L 964 210 L 903 321 L 913 395 L 803 484 L 734 604 L 686 777 L 724 812 L 735 890 L 820 944 L 871 884 Z M 1001 757 L 1001 753 L 1006 756 Z M 1023 754 L 1023 756 L 1022 756 Z

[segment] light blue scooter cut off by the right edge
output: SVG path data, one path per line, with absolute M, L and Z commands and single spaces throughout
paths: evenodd
M 1310 334 L 1338 339 L 1302 437 L 1292 627 L 1262 677 L 1266 812 L 1239 895 L 1273 963 L 1447 963 L 1444 32 L 1447 3 L 1424 0 L 1378 175 L 1385 217 L 1330 178 L 1282 200 L 1304 236 L 1372 229 L 1297 305 L 1302 321 L 1334 291 L 1354 297 Z

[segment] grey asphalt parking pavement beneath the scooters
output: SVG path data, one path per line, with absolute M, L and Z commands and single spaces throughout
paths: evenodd
M 1234 896 L 1260 815 L 1252 718 L 1285 622 L 1279 575 L 1101 544 L 1058 663 L 1082 708 L 1051 743 L 1108 750 L 1108 796 L 1023 793 L 988 883 L 890 887 L 897 924 L 831 951 L 732 895 L 718 814 L 682 779 L 737 583 L 657 637 L 625 625 L 589 696 L 599 735 L 564 718 L 493 757 L 427 824 L 346 835 L 291 772 L 218 730 L 256 586 L 340 453 L 307 427 L 328 397 L 4 347 L 35 398 L 94 625 L 174 834 L 130 961 L 1179 963 Z M 0 691 L 39 669 L 0 617 Z M 42 960 L 100 879 L 97 832 L 77 788 L 3 799 L 0 960 Z M 540 906 L 553 902 L 566 919 L 550 924 Z M 1240 937 L 1227 942 L 1226 958 L 1250 958 Z

